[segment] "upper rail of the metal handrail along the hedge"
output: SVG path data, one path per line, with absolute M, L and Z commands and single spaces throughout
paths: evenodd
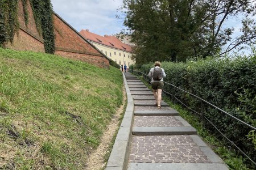
M 131 70 L 131 69 L 130 69 L 130 70 Z M 137 71 L 137 70 L 132 70 L 132 71 Z M 142 73 L 141 71 L 137 71 L 137 72 Z M 144 74 L 144 73 L 142 73 L 142 74 Z M 146 74 L 144 74 L 144 75 L 146 75 Z M 148 75 L 146 75 L 146 76 L 148 76 Z M 214 108 L 218 109 L 218 111 L 221 111 L 221 112 L 223 112 L 223 113 L 225 113 L 225 114 L 228 114 L 228 116 L 230 116 L 230 117 L 232 117 L 232 118 L 236 119 L 237 121 L 240 121 L 242 124 L 244 124 L 244 125 L 248 126 L 249 128 L 256 130 L 256 128 L 255 128 L 255 127 L 253 127 L 253 126 L 251 126 L 251 125 L 247 124 L 246 122 L 244 122 L 244 121 L 240 120 L 239 118 L 237 118 L 237 117 L 233 116 L 232 114 L 230 114 L 230 113 L 228 113 L 228 112 L 223 111 L 222 109 L 220 109 L 220 108 L 216 107 L 215 105 L 213 105 L 213 104 L 209 103 L 208 101 L 206 101 L 206 100 L 202 99 L 201 97 L 196 96 L 196 95 L 194 95 L 194 94 L 191 94 L 190 92 L 185 91 L 185 90 L 183 90 L 182 88 L 179 88 L 179 87 L 175 86 L 174 84 L 171 84 L 171 83 L 168 83 L 168 82 L 164 82 L 164 83 L 169 84 L 170 86 L 173 86 L 173 87 L 175 87 L 175 88 L 177 88 L 177 89 L 179 89 L 179 90 L 181 90 L 181 91 L 184 91 L 184 92 L 186 92 L 187 94 L 192 95 L 192 96 L 196 97 L 197 99 L 200 99 L 201 101 L 204 101 L 205 103 L 209 104 L 210 106 L 212 106 L 212 107 L 214 107 Z

